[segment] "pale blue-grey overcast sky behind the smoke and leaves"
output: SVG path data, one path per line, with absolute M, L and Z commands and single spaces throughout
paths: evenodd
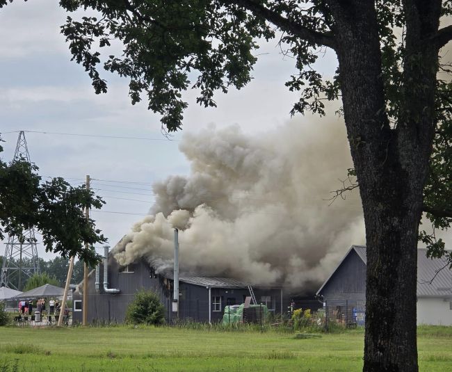
M 189 164 L 178 150 L 184 133 L 214 123 L 239 124 L 246 133 L 257 134 L 290 119 L 297 97 L 284 82 L 294 71 L 294 61 L 284 58 L 273 40 L 262 43 L 252 83 L 241 91 L 218 94 L 218 108 L 197 106 L 195 92 L 188 92 L 184 130 L 166 140 L 159 116 L 147 111 L 146 102 L 131 106 L 127 80 L 104 72 L 108 93 L 95 95 L 83 67 L 70 61 L 59 33 L 65 17 L 56 0 L 17 0 L 0 10 L 0 131 L 6 140 L 2 157 L 12 158 L 17 133 L 8 132 L 19 130 L 156 139 L 26 133 L 40 175 L 65 177 L 74 185 L 86 175 L 94 179 L 92 187 L 107 204 L 103 212 L 93 211 L 92 218 L 112 246 L 149 210 L 153 181 L 188 173 Z M 331 75 L 334 55 L 326 53 L 318 67 Z M 299 120 L 309 125 L 309 117 Z M 38 252 L 51 257 L 42 246 Z

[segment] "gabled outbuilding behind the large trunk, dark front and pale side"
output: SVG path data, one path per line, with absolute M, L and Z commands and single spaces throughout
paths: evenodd
M 442 259 L 417 253 L 417 324 L 452 325 L 452 270 Z M 317 291 L 329 321 L 364 325 L 366 247 L 353 245 Z

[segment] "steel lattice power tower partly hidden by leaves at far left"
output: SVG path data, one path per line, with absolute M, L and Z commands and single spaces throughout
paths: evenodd
M 19 132 L 17 138 L 14 160 L 25 160 L 30 163 L 29 149 L 26 145 L 24 131 Z M 21 243 L 17 236 L 8 236 L 3 266 L 1 268 L 0 286 L 21 291 L 26 279 L 33 274 L 39 274 L 39 257 L 36 248 L 35 230 L 24 232 L 24 241 Z

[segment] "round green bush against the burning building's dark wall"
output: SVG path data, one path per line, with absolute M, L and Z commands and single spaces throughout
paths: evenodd
M 127 307 L 126 321 L 132 324 L 163 324 L 165 309 L 154 292 L 141 289 Z

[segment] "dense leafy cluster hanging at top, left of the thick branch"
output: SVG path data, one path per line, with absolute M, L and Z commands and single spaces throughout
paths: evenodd
M 150 110 L 162 115 L 168 131 L 181 128 L 186 102 L 181 92 L 200 91 L 197 102 L 216 106 L 213 93 L 242 88 L 251 79 L 257 38 L 272 38 L 273 29 L 238 6 L 224 1 L 74 1 L 61 0 L 69 11 L 93 8 L 101 17 L 67 17 L 62 33 L 74 60 L 92 79 L 96 93 L 106 92 L 97 71 L 98 48 L 111 38 L 124 45 L 120 56 L 109 55 L 104 68 L 128 76 L 132 104 L 146 95 Z M 92 49 L 95 49 L 92 51 Z M 189 76 L 197 72 L 194 81 Z

